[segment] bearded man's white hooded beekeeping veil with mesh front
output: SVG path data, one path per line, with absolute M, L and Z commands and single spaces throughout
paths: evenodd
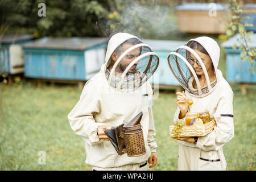
M 105 62 L 109 85 L 120 90 L 135 90 L 156 71 L 159 57 L 136 36 L 118 33 L 109 40 Z

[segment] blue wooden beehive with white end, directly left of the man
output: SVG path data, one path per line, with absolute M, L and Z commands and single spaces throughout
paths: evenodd
M 86 81 L 105 62 L 106 38 L 42 38 L 23 45 L 25 77 Z

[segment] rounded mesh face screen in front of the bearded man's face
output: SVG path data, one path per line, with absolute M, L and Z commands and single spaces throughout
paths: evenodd
M 110 85 L 118 89 L 134 90 L 139 88 L 156 71 L 159 57 L 146 44 L 137 42 L 123 44 L 117 51 L 118 58 L 108 63 L 106 77 Z M 127 51 L 129 50 L 129 51 Z

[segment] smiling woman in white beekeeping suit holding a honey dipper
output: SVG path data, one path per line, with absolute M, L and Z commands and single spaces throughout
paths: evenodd
M 175 138 L 179 142 L 178 170 L 225 170 L 222 147 L 234 137 L 233 92 L 217 69 L 220 48 L 212 38 L 191 39 L 168 55 L 172 73 L 185 89 L 177 92 L 174 122 L 188 112 L 209 111 L 217 126 L 204 137 Z

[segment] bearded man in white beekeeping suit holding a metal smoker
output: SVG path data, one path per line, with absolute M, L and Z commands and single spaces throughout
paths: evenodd
M 86 82 L 80 100 L 68 114 L 72 130 L 84 139 L 86 160 L 93 170 L 146 170 L 156 165 L 152 88 L 148 78 L 159 57 L 136 36 L 118 33 L 110 38 L 105 64 Z M 141 125 L 146 154 L 118 155 L 106 129 L 129 122 L 143 112 Z

